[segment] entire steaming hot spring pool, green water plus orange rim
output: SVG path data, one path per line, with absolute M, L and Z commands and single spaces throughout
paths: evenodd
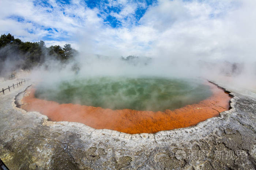
M 202 79 L 98 77 L 27 89 L 21 108 L 51 121 L 129 134 L 196 125 L 228 110 L 228 94 Z

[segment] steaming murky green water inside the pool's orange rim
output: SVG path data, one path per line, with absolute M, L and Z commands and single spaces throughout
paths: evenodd
M 55 87 L 55 88 L 54 88 Z M 39 85 L 35 97 L 58 103 L 148 111 L 174 110 L 211 96 L 200 80 L 101 77 Z

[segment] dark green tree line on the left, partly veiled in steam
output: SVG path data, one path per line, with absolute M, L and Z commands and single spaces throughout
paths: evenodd
M 42 40 L 39 42 L 23 42 L 18 38 L 15 39 L 10 33 L 0 36 L 0 63 L 15 63 L 13 69 L 31 69 L 44 63 L 49 58 L 66 62 L 77 53 L 78 51 L 73 49 L 70 44 L 65 44 L 64 47 L 59 45 L 46 47 Z M 4 71 L 3 68 L 3 65 L 0 66 L 0 74 Z

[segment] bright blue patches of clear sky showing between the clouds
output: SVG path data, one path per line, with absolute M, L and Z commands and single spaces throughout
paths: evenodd
M 15 3 L 15 2 L 14 2 Z M 139 24 L 140 18 L 144 15 L 147 9 L 150 6 L 157 5 L 156 0 L 133 0 L 133 1 L 117 1 L 117 0 L 83 0 L 83 1 L 72 1 L 72 0 L 35 0 L 27 1 L 27 5 L 30 5 L 31 8 L 40 9 L 42 15 L 47 15 L 49 17 L 59 16 L 60 13 L 64 17 L 69 17 L 78 23 L 83 23 L 84 18 L 72 13 L 68 8 L 79 8 L 84 11 L 93 10 L 96 12 L 97 17 L 101 19 L 102 24 L 106 27 L 111 28 L 120 28 L 120 27 L 132 27 Z M 26 11 L 24 10 L 24 13 Z M 55 15 L 55 16 L 54 16 Z M 40 40 L 44 41 L 72 41 L 72 33 L 64 31 L 61 28 L 54 27 L 54 25 L 44 25 L 39 22 L 34 21 L 33 19 L 26 18 L 21 14 L 15 14 L 15 12 L 5 19 L 16 21 L 18 23 L 29 23 L 33 25 L 33 28 L 27 28 L 27 31 L 30 34 L 37 33 L 38 29 L 44 31 L 44 35 L 39 36 Z M 76 27 L 76 25 L 71 25 Z M 9 31 L 4 31 L 7 33 Z M 62 36 L 56 36 L 57 33 L 60 33 Z M 18 35 L 23 37 L 23 35 Z M 38 40 L 39 40 L 38 39 Z M 37 39 L 33 39 L 38 41 Z

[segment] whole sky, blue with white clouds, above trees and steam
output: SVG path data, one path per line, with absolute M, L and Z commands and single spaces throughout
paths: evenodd
M 0 33 L 44 40 L 46 46 L 70 43 L 102 55 L 253 57 L 255 5 L 255 0 L 1 0 Z

